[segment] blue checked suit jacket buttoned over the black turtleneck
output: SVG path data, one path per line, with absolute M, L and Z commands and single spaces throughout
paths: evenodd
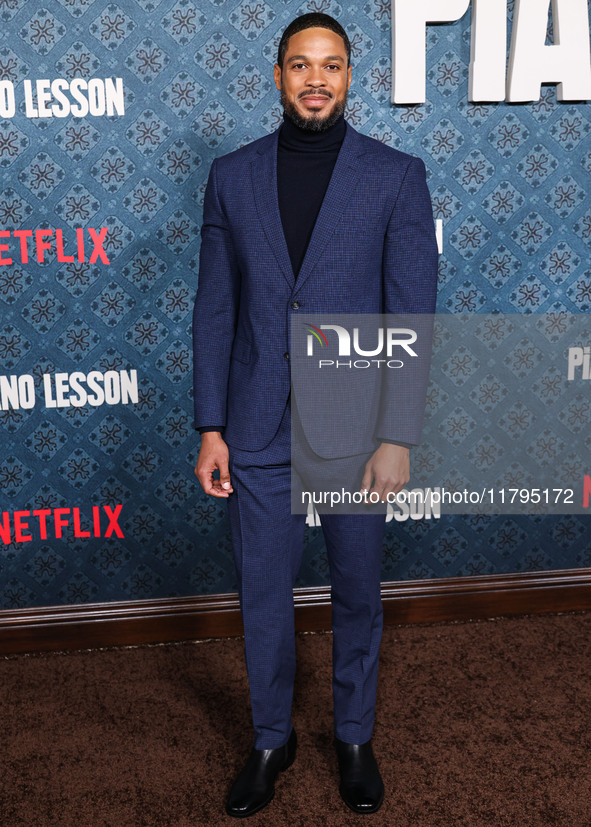
M 224 425 L 225 440 L 247 451 L 269 444 L 285 410 L 290 317 L 435 311 L 437 245 L 423 162 L 347 124 L 296 281 L 279 214 L 277 139 L 278 131 L 214 160 L 201 229 L 195 427 Z M 314 451 L 346 456 L 373 450 L 380 437 L 418 443 L 425 391 L 423 377 L 393 399 L 389 415 L 345 427 L 347 443 L 337 437 L 329 448 L 317 428 L 322 415 L 298 409 Z

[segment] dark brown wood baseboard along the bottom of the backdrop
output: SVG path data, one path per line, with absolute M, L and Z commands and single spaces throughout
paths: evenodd
M 330 629 L 330 588 L 296 589 L 299 631 Z M 591 609 L 591 568 L 382 584 L 384 622 L 435 623 Z M 242 634 L 236 594 L 0 611 L 0 653 Z

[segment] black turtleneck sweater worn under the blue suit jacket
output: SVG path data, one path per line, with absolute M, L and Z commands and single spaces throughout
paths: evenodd
M 277 146 L 279 213 L 297 279 L 345 137 L 343 115 L 324 132 L 300 129 L 283 115 Z

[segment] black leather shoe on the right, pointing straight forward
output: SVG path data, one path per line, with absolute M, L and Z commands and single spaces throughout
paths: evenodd
M 384 800 L 384 782 L 374 758 L 371 741 L 346 744 L 335 738 L 341 798 L 354 813 L 375 813 Z

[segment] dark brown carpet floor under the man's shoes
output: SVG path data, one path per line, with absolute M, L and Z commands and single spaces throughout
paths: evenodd
M 385 630 L 379 813 L 337 791 L 330 634 L 298 637 L 299 751 L 248 823 L 591 826 L 591 614 Z M 242 640 L 0 659 L 0 823 L 235 824 L 251 747 Z

